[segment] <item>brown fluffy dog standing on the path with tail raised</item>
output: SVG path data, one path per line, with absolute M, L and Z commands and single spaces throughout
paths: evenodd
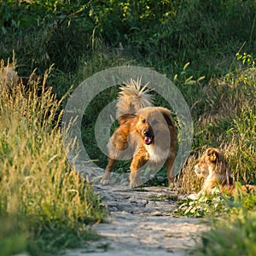
M 119 127 L 108 143 L 108 166 L 102 184 L 109 183 L 113 165 L 117 160 L 131 158 L 130 187 L 140 186 L 143 166 L 155 169 L 166 163 L 169 183 L 177 148 L 177 131 L 171 111 L 153 107 L 151 97 L 139 81 L 131 80 L 119 93 L 117 103 Z

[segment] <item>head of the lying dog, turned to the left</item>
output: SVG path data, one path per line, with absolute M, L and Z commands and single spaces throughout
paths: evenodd
M 224 161 L 224 154 L 218 148 L 208 148 L 201 156 L 199 163 L 195 166 L 195 174 L 198 177 L 207 178 L 214 172 L 218 172 L 219 163 Z

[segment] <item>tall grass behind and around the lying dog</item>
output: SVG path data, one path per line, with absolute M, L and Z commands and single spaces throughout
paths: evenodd
M 203 113 L 195 120 L 196 151 L 207 147 L 222 148 L 230 169 L 241 183 L 255 183 L 256 120 L 255 73 L 253 67 L 229 73 L 221 79 L 212 79 L 202 91 Z M 183 169 L 180 180 L 188 193 L 195 189 L 196 177 L 193 156 Z M 193 179 L 194 182 L 188 183 Z

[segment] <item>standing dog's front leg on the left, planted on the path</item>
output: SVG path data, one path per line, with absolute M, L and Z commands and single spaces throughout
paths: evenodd
M 140 168 L 143 167 L 147 161 L 148 158 L 145 154 L 142 154 L 141 152 L 137 152 L 137 154 L 133 156 L 130 166 L 130 188 L 136 188 L 142 185 Z

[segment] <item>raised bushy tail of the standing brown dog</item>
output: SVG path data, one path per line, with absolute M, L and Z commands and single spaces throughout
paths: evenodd
M 141 79 L 131 79 L 120 87 L 119 100 L 116 104 L 116 117 L 119 119 L 124 114 L 134 114 L 140 108 L 152 107 L 153 98 L 148 94 L 148 84 L 142 86 Z

